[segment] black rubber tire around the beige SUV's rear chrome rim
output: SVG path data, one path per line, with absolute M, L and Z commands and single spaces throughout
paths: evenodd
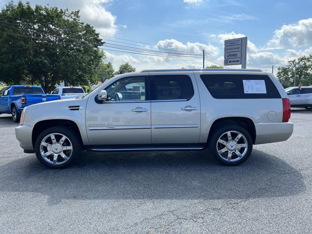
M 224 143 L 218 143 L 218 140 L 220 137 L 224 137 L 225 134 L 229 131 L 233 131 L 231 134 L 231 136 L 234 138 L 236 138 L 238 136 L 237 133 L 235 132 L 238 132 L 242 135 L 242 137 L 240 137 L 240 139 L 237 141 L 237 143 L 239 143 L 239 145 L 241 145 L 241 143 L 243 143 L 242 141 L 247 141 L 247 150 L 245 152 L 245 148 L 244 147 L 241 147 L 239 150 L 238 150 L 238 153 L 244 153 L 244 155 L 242 157 L 239 157 L 238 155 L 236 155 L 235 151 L 232 153 L 232 156 L 233 158 L 231 158 L 230 160 L 228 160 L 228 158 L 225 158 L 226 154 L 229 153 L 229 151 L 226 151 L 224 153 L 221 153 L 221 156 L 219 155 L 218 153 L 218 147 L 220 147 L 219 150 L 222 149 Z M 237 134 L 237 135 L 235 135 Z M 232 138 L 232 139 L 233 139 Z M 228 138 L 225 138 L 225 141 L 226 139 Z M 228 141 L 230 142 L 230 141 Z M 230 145 L 230 146 L 233 146 Z M 219 128 L 217 128 L 212 136 L 210 137 L 209 139 L 209 142 L 208 142 L 208 147 L 209 147 L 209 151 L 211 153 L 211 155 L 220 163 L 224 164 L 224 165 L 228 165 L 228 166 L 236 166 L 236 165 L 239 165 L 243 162 L 245 162 L 249 156 L 251 155 L 252 153 L 252 150 L 253 150 L 253 140 L 252 140 L 252 137 L 250 136 L 250 134 L 248 133 L 248 131 L 238 125 L 234 125 L 234 124 L 226 124 L 224 126 L 220 126 Z M 224 149 L 227 149 L 228 146 L 224 145 Z M 235 147 L 235 146 L 234 146 Z M 234 148 L 235 149 L 235 148 Z M 241 151 L 241 152 L 240 152 Z

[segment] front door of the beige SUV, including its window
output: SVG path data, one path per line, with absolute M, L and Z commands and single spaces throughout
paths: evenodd
M 107 101 L 89 98 L 86 129 L 90 143 L 150 144 L 151 101 L 145 89 L 148 86 L 146 74 L 120 78 L 104 88 Z

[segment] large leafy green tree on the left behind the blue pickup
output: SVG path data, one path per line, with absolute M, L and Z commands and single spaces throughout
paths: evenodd
M 79 11 L 10 1 L 0 12 L 0 79 L 40 84 L 47 93 L 57 83 L 96 82 L 104 54 L 95 29 Z

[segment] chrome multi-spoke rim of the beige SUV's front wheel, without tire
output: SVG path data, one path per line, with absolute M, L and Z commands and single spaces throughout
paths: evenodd
M 60 133 L 51 133 L 40 143 L 40 154 L 50 164 L 63 164 L 73 153 L 72 142 Z

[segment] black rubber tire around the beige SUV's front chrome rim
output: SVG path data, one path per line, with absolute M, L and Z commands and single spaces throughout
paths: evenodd
M 47 137 L 48 135 L 54 134 L 54 133 L 57 135 L 57 137 L 60 136 L 60 135 L 63 135 L 65 137 L 67 137 L 69 139 L 68 142 L 71 143 L 71 146 L 72 146 L 72 152 L 71 152 L 71 155 L 69 156 L 69 159 L 67 161 L 65 161 L 65 159 L 64 159 L 65 162 L 62 163 L 61 162 L 62 157 L 60 155 L 57 157 L 58 160 L 60 160 L 59 163 L 61 163 L 61 164 L 53 164 L 51 162 L 46 161 L 43 158 L 43 156 L 41 156 L 41 153 L 40 153 L 41 141 L 45 137 Z M 60 135 L 58 135 L 58 134 L 60 134 Z M 59 139 L 57 139 L 57 137 L 56 137 L 56 141 L 59 143 Z M 61 145 L 63 146 L 64 143 L 66 143 L 66 142 L 63 142 Z M 70 145 L 70 144 L 68 144 L 68 145 Z M 48 148 L 46 148 L 46 149 L 48 149 Z M 75 131 L 73 131 L 72 129 L 70 129 L 69 127 L 67 127 L 67 126 L 51 127 L 51 128 L 48 128 L 48 129 L 44 130 L 37 137 L 36 143 L 35 143 L 35 153 L 36 153 L 36 156 L 37 156 L 38 160 L 43 165 L 45 165 L 47 167 L 50 167 L 50 168 L 54 168 L 54 169 L 68 167 L 75 160 L 75 158 L 77 158 L 80 155 L 80 152 L 81 152 L 81 141 L 80 141 L 79 137 L 77 136 L 77 133 Z M 53 156 L 53 155 L 54 154 L 52 154 L 51 156 Z M 50 156 L 46 157 L 47 160 L 49 160 L 49 158 L 50 158 Z

